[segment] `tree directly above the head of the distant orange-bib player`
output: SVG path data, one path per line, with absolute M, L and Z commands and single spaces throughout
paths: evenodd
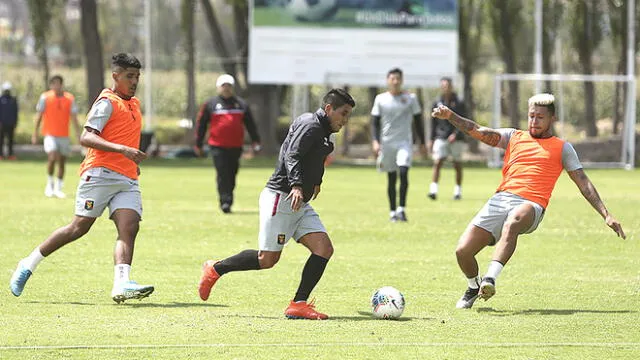
M 51 30 L 51 13 L 56 6 L 54 0 L 28 0 L 31 32 L 35 39 L 35 52 L 44 69 L 44 89 L 49 86 L 49 55 L 47 52 L 48 36 Z

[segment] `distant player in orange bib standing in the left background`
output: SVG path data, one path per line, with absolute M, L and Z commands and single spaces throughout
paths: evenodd
M 62 191 L 64 179 L 64 165 L 67 156 L 71 153 L 69 141 L 69 120 L 73 119 L 76 136 L 80 137 L 80 124 L 78 124 L 78 107 L 74 96 L 62 89 L 63 79 L 60 75 L 54 75 L 49 80 L 49 91 L 40 95 L 36 111 L 36 126 L 31 136 L 31 143 L 38 142 L 38 130 L 42 123 L 42 136 L 44 136 L 44 152 L 47 153 L 47 186 L 44 195 L 47 197 L 64 198 Z M 58 163 L 58 177 L 54 180 L 53 173 Z

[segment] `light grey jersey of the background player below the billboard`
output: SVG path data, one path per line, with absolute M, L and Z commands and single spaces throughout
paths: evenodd
M 390 92 L 378 94 L 371 108 L 372 116 L 380 117 L 381 143 L 413 143 L 412 121 L 420 114 L 420 104 L 415 94 L 402 92 L 391 95 Z

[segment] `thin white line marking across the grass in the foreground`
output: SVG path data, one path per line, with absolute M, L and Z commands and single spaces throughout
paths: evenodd
M 416 343 L 365 343 L 365 342 L 330 342 L 330 343 L 250 343 L 250 344 L 123 344 L 123 345 L 33 345 L 33 346 L 0 346 L 3 350 L 77 350 L 77 349 L 172 349 L 172 348 L 254 348 L 254 347 L 593 347 L 617 348 L 640 347 L 640 342 L 557 342 L 557 343 L 473 343 L 473 342 L 416 342 Z

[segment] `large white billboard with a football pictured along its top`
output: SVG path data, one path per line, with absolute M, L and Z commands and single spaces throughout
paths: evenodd
M 279 6 L 276 0 L 256 0 L 249 82 L 381 86 L 395 67 L 409 86 L 455 77 L 455 0 L 414 0 L 421 5 L 413 8 L 396 8 L 407 1 L 373 0 L 368 7 L 359 1 L 357 8 L 349 3 L 354 1 L 291 0 Z

